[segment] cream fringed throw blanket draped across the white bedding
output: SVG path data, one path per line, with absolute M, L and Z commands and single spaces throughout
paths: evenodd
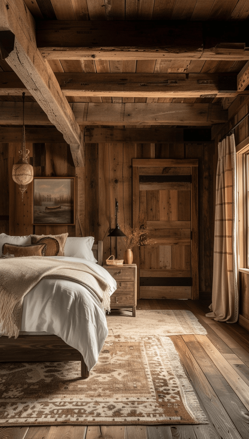
M 109 284 L 83 263 L 29 256 L 0 260 L 0 323 L 9 337 L 18 337 L 24 296 L 44 277 L 77 282 L 97 299 L 105 312 L 110 310 Z

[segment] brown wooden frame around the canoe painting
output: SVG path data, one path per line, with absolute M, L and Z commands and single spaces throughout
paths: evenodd
M 71 180 L 71 192 L 73 192 L 72 197 L 71 197 L 71 206 L 70 206 L 70 216 L 71 216 L 71 221 L 70 222 L 57 222 L 56 220 L 53 221 L 46 221 L 44 220 L 44 222 L 40 221 L 37 222 L 37 215 L 35 212 L 35 208 L 36 208 L 36 204 L 35 204 L 35 191 L 36 191 L 36 182 L 39 180 L 49 180 L 51 181 L 51 194 L 52 194 L 52 199 L 54 198 L 54 193 L 53 193 L 53 187 L 52 187 L 52 182 L 55 180 L 61 180 L 61 184 L 63 184 L 63 180 Z M 44 202 L 42 203 L 44 204 Z M 46 203 L 46 204 L 51 204 L 51 203 Z M 51 208 L 52 209 L 52 208 Z M 59 209 L 56 209 L 59 210 Z M 67 177 L 67 176 L 61 176 L 61 177 L 34 177 L 33 181 L 32 181 L 32 225 L 33 226 L 75 226 L 75 222 L 76 221 L 76 177 Z

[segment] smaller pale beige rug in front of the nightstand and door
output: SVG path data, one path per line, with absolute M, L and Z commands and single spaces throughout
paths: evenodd
M 198 322 L 191 311 L 186 310 L 144 310 L 111 311 L 106 316 L 109 334 L 114 335 L 206 335 L 206 329 Z

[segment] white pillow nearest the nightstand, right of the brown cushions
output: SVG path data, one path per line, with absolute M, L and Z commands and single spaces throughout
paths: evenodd
M 92 252 L 94 237 L 67 237 L 64 255 L 72 258 L 87 259 L 87 261 L 97 262 Z

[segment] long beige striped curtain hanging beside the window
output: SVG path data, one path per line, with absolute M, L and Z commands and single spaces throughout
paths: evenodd
M 236 157 L 234 134 L 218 145 L 211 312 L 207 317 L 238 320 L 236 257 Z

